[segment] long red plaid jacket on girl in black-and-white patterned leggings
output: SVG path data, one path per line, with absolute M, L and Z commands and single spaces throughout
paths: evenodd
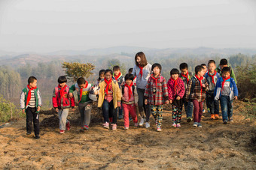
M 148 99 L 148 103 L 154 106 L 163 105 L 169 97 L 166 79 L 161 75 L 158 77 L 159 79 L 157 79 L 157 85 L 155 80 L 152 78 L 152 75 L 149 77 L 144 93 L 145 99 Z M 155 93 L 153 92 L 154 87 L 156 88 Z

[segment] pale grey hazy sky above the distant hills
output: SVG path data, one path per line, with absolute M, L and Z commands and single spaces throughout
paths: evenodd
M 254 0 L 0 0 L 0 50 L 256 47 Z

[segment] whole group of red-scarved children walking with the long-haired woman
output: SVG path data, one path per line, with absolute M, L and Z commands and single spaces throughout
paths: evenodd
M 181 127 L 183 106 L 187 122 L 194 121 L 194 127 L 202 127 L 204 103 L 211 113 L 211 119 L 218 119 L 219 101 L 224 124 L 233 121 L 232 103 L 233 99 L 237 100 L 238 91 L 235 75 L 228 66 L 227 59 L 221 59 L 217 69 L 213 60 L 208 65 L 198 65 L 194 76 L 188 71 L 187 64 L 181 63 L 180 71 L 176 68 L 170 71 L 168 82 L 161 75 L 161 65 L 149 64 L 143 52 L 136 54 L 135 63 L 124 78 L 119 66 L 114 66 L 113 70 L 100 70 L 96 85 L 81 77 L 69 88 L 66 76 L 59 76 L 59 85 L 54 88 L 52 98 L 53 108 L 59 114 L 59 133 L 70 130 L 67 116 L 69 109 L 75 108 L 74 91 L 78 92 L 81 131 L 89 129 L 93 101 L 98 101 L 98 107 L 102 109 L 102 126 L 109 129 L 111 125 L 112 130 L 117 130 L 117 117 L 124 119 L 125 130 L 129 130 L 130 119 L 135 127 L 142 127 L 144 124 L 146 128 L 151 127 L 149 119 L 152 114 L 157 131 L 161 131 L 163 105 L 169 103 L 172 104 L 172 127 Z M 29 77 L 28 85 L 20 96 L 20 105 L 23 112 L 26 112 L 27 135 L 32 133 L 33 121 L 35 138 L 39 139 L 38 112 L 42 102 L 36 85 L 37 79 Z

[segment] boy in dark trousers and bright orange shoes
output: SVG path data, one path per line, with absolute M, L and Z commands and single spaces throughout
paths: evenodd
M 211 119 L 219 118 L 219 103 L 218 100 L 215 100 L 214 91 L 218 78 L 220 77 L 219 73 L 215 70 L 216 65 L 214 60 L 208 61 L 208 73 L 206 73 L 205 78 L 209 84 L 209 90 L 206 91 L 206 105 L 210 109 Z

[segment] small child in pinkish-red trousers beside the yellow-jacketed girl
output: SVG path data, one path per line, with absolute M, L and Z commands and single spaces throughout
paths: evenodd
M 132 115 L 134 126 L 138 127 L 138 119 L 136 115 L 136 106 L 138 106 L 138 94 L 133 85 L 133 74 L 126 74 L 124 77 L 125 85 L 121 86 L 122 101 L 123 101 L 123 118 L 124 118 L 124 129 L 129 129 L 129 112 Z

